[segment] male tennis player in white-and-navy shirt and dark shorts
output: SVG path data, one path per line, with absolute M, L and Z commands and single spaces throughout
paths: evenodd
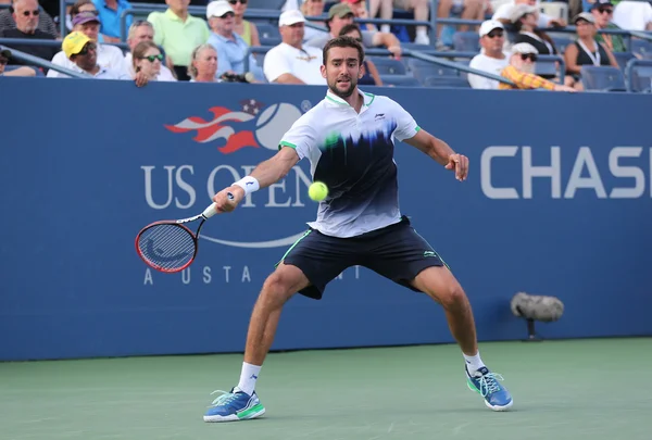
M 285 134 L 280 150 L 251 175 L 213 198 L 229 212 L 246 194 L 281 179 L 308 158 L 314 180 L 329 189 L 316 222 L 283 256 L 267 277 L 253 307 L 240 381 L 213 401 L 205 422 L 244 420 L 265 408 L 254 391 L 280 316 L 292 294 L 321 299 L 326 285 L 352 265 L 368 267 L 412 290 L 424 292 L 446 310 L 451 332 L 466 361 L 467 385 L 491 410 L 512 406 L 512 397 L 480 360 L 471 305 L 462 287 L 435 250 L 401 215 L 398 203 L 393 139 L 416 147 L 460 181 L 468 159 L 416 125 L 387 97 L 363 93 L 358 79 L 364 52 L 350 37 L 337 37 L 324 48 L 322 75 L 326 98 Z M 234 200 L 227 193 L 234 194 Z

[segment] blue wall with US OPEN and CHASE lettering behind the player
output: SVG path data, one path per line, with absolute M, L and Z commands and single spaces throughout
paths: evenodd
M 315 216 L 308 163 L 211 218 L 183 274 L 148 269 L 134 239 L 271 158 L 325 89 L 0 87 L 0 360 L 241 351 L 263 280 Z M 564 301 L 560 322 L 538 326 L 547 338 L 652 334 L 650 97 L 367 91 L 471 159 L 459 183 L 396 148 L 402 212 L 464 286 L 480 340 L 526 335 L 509 306 L 518 291 Z M 451 341 L 431 300 L 352 267 L 324 300 L 288 303 L 273 349 Z

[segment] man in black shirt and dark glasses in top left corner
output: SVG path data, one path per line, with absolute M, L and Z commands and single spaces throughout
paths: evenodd
M 0 30 L 0 38 L 24 38 L 28 40 L 53 40 L 54 36 L 38 28 L 39 7 L 36 0 L 17 0 L 13 4 L 16 27 Z M 28 53 L 43 60 L 51 60 L 57 53 L 53 46 L 12 45 L 13 49 Z M 28 64 L 20 60 L 12 60 L 12 64 Z

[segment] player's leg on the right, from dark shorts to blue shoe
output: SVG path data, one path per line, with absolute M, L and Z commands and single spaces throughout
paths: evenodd
M 482 363 L 476 338 L 473 312 L 466 294 L 449 267 L 410 222 L 386 228 L 373 239 L 365 266 L 412 290 L 435 299 L 446 311 L 451 334 L 466 361 L 469 387 L 480 392 L 487 406 L 503 411 L 512 398 Z

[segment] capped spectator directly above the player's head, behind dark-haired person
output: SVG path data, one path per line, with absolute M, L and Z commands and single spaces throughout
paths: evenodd
M 326 43 L 333 38 L 337 37 L 346 25 L 352 24 L 355 15 L 347 3 L 336 3 L 328 10 L 328 21 L 326 27 L 329 30 L 328 35 L 316 37 L 306 42 L 308 46 L 312 46 L 317 49 L 324 49 Z M 374 46 L 385 46 L 394 58 L 401 56 L 401 42 L 399 39 L 389 33 L 379 33 L 363 30 L 362 32 L 362 46 L 371 48 Z

